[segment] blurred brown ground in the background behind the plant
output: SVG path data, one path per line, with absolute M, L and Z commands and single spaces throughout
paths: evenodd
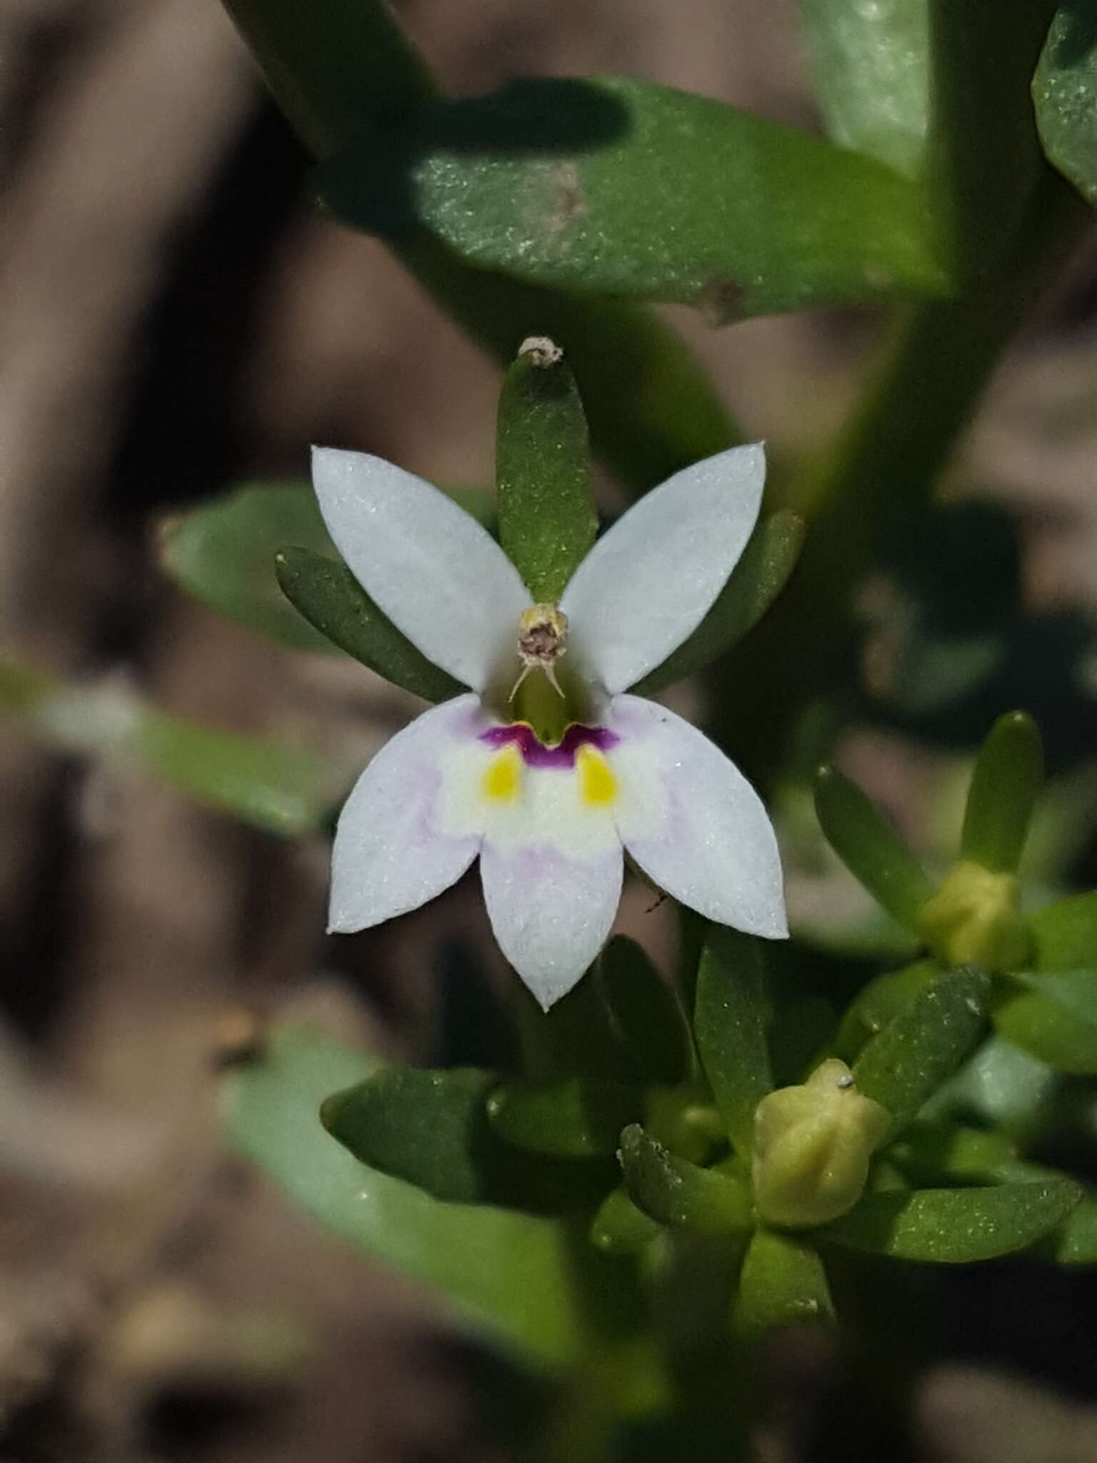
M 791 0 L 401 9 L 458 92 L 625 72 L 815 126 Z M 303 477 L 314 440 L 490 483 L 494 367 L 380 244 L 310 206 L 215 0 L 3 0 L 0 193 L 0 651 L 363 764 L 412 698 L 186 600 L 157 525 Z M 1097 597 L 1096 306 L 1084 253 L 955 470 L 1022 514 L 1036 607 Z M 750 435 L 788 451 L 837 418 L 875 331 L 674 320 Z M 851 755 L 916 821 L 938 764 L 867 734 Z M 216 1128 L 216 1056 L 246 1009 L 423 1056 L 442 942 L 487 948 L 475 897 L 325 942 L 320 840 L 3 721 L 0 808 L 0 1459 L 499 1456 L 430 1298 L 293 1213 Z M 658 914 L 625 920 L 658 945 Z M 1002 1409 L 1022 1406 L 1040 1459 L 1097 1457 L 1091 1418 L 1040 1391 L 945 1368 L 919 1396 L 926 1456 L 1008 1460 Z M 772 1459 L 802 1456 L 788 1410 Z

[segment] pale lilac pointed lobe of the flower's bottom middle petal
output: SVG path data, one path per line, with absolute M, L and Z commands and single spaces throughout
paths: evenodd
M 620 844 L 597 859 L 484 841 L 480 875 L 499 948 L 547 1011 L 606 944 L 620 901 Z

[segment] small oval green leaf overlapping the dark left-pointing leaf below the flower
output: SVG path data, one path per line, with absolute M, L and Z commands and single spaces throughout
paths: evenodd
M 565 1077 L 502 1083 L 487 1100 L 494 1132 L 516 1148 L 559 1159 L 611 1157 L 622 1128 L 641 1116 L 632 1087 Z

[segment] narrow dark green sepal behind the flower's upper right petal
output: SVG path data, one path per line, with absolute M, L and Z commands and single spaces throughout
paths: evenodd
M 800 556 L 804 527 L 803 518 L 788 508 L 764 518 L 701 625 L 633 691 L 651 696 L 731 650 L 784 588 Z

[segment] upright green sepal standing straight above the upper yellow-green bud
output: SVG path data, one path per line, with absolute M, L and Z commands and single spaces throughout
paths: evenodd
M 976 758 L 960 841 L 961 859 L 1017 873 L 1043 781 L 1040 732 L 1024 711 L 999 717 Z

